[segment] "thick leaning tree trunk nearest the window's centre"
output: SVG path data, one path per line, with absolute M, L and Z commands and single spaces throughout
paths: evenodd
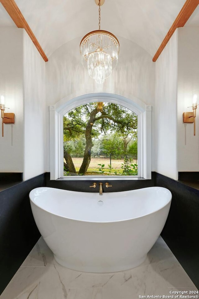
M 91 148 L 93 146 L 91 131 L 92 131 L 92 126 L 95 122 L 94 118 L 97 113 L 98 113 L 97 108 L 95 108 L 93 111 L 91 111 L 90 118 L 86 125 L 86 131 L 85 131 L 86 147 L 84 150 L 84 158 L 83 158 L 80 170 L 79 170 L 79 174 L 81 174 L 81 175 L 86 175 L 86 171 L 90 164 Z

